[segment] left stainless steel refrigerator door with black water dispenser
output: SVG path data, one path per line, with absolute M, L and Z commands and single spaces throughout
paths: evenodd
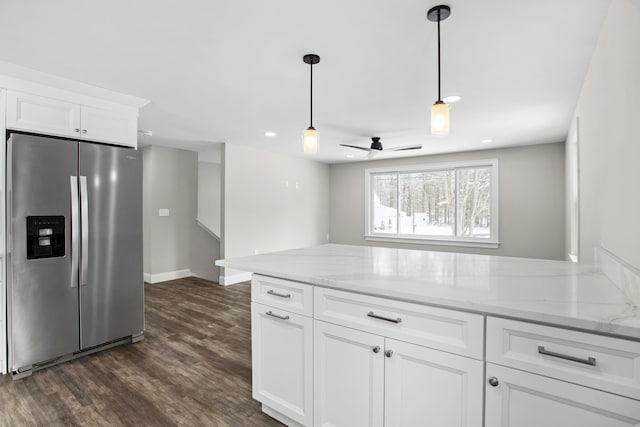
M 8 339 L 10 369 L 16 371 L 79 349 L 70 188 L 70 177 L 78 174 L 78 143 L 12 134 L 7 150 Z M 60 227 L 62 256 L 46 248 Z M 41 245 L 43 257 L 27 259 L 28 244 Z

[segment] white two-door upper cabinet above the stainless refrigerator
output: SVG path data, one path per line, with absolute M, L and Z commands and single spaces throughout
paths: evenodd
M 9 90 L 7 128 L 136 147 L 138 114 Z

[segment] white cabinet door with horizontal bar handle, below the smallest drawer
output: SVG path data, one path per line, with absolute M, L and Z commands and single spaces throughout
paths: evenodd
M 253 397 L 313 425 L 313 320 L 251 303 Z

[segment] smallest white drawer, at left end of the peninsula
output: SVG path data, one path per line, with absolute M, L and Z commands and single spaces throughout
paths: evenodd
M 304 283 L 254 274 L 251 300 L 304 316 L 313 315 L 313 288 Z

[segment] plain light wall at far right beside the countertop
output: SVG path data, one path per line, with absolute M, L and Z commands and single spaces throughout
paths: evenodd
M 579 252 L 602 246 L 640 268 L 640 1 L 616 0 L 578 100 Z

